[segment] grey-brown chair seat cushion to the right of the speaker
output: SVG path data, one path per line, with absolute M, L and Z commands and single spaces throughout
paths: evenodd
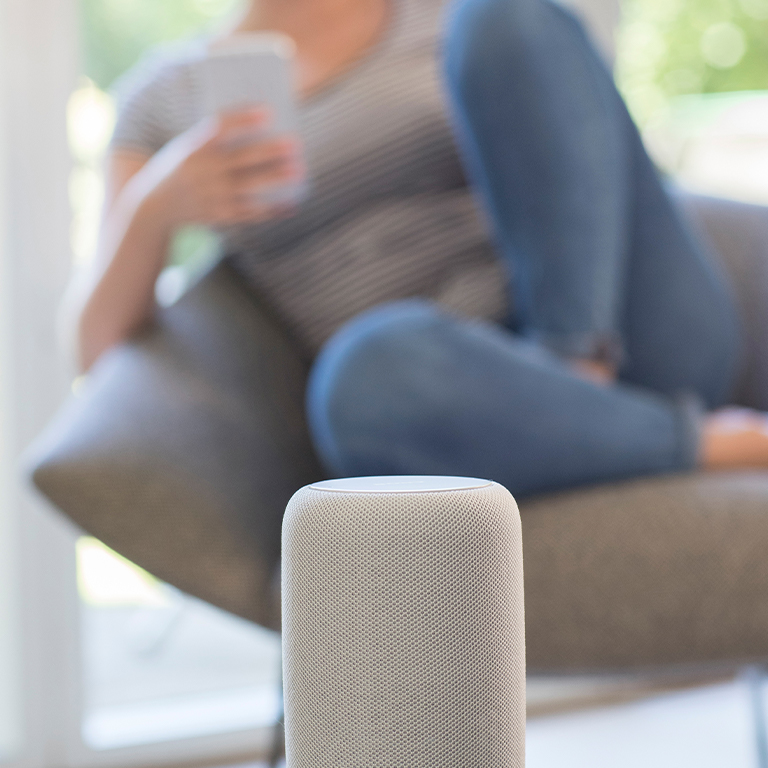
M 531 670 L 768 656 L 768 473 L 700 473 L 524 501 Z

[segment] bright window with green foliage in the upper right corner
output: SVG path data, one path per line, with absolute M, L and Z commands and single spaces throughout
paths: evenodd
M 684 185 L 768 203 L 768 0 L 624 0 L 616 76 Z

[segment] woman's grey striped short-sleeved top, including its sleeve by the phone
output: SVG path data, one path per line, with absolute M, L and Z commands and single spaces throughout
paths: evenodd
M 301 104 L 311 190 L 297 214 L 223 233 L 227 258 L 310 354 L 386 301 L 506 314 L 509 281 L 446 117 L 442 0 L 393 2 L 376 47 Z M 202 51 L 165 51 L 124 80 L 113 147 L 155 152 L 199 118 L 190 61 Z

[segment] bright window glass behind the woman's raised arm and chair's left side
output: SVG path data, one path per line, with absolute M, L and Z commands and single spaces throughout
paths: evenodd
M 198 34 L 232 6 L 232 0 L 81 0 L 84 74 L 68 107 L 76 267 L 87 264 L 96 244 L 101 165 L 115 118 L 110 86 L 146 49 Z M 210 240 L 200 231 L 181 234 L 160 298 L 170 300 L 169 290 L 178 294 L 185 274 L 210 252 Z M 95 539 L 79 540 L 77 567 L 82 728 L 89 747 L 129 747 L 274 721 L 280 664 L 274 633 L 157 581 Z

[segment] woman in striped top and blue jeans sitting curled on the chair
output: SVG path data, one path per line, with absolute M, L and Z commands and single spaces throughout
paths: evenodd
M 497 255 L 445 117 L 440 5 L 251 3 L 230 34 L 295 40 L 301 144 L 232 149 L 268 115 L 200 120 L 194 48 L 135 75 L 80 302 L 83 368 L 151 321 L 174 230 L 203 223 L 316 358 L 308 416 L 336 474 L 473 474 L 525 494 L 768 467 L 763 416 L 717 410 L 739 364 L 728 286 L 578 24 L 546 0 L 450 16 L 455 138 Z M 305 163 L 306 203 L 259 204 Z

